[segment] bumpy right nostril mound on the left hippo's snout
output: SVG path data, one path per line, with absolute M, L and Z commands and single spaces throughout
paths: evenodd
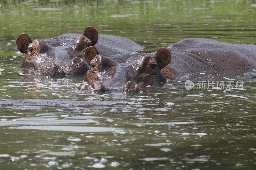
M 81 58 L 75 57 L 70 61 L 69 67 L 65 70 L 65 74 L 70 76 L 85 75 L 88 70 L 88 64 Z

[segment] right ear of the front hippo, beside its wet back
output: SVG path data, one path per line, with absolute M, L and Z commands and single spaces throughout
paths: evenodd
M 171 53 L 167 48 L 159 48 L 155 55 L 155 59 L 159 68 L 162 69 L 171 62 Z

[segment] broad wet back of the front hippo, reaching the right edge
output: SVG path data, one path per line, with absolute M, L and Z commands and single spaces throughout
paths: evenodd
M 168 66 L 178 77 L 206 70 L 256 68 L 256 45 L 253 44 L 232 44 L 203 38 L 189 38 L 172 44 L 167 49 L 172 55 L 172 61 Z

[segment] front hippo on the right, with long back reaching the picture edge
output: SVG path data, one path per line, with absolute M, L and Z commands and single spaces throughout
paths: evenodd
M 92 90 L 139 92 L 200 71 L 255 69 L 256 45 L 190 38 L 149 54 L 96 55 L 90 66 L 84 81 Z

